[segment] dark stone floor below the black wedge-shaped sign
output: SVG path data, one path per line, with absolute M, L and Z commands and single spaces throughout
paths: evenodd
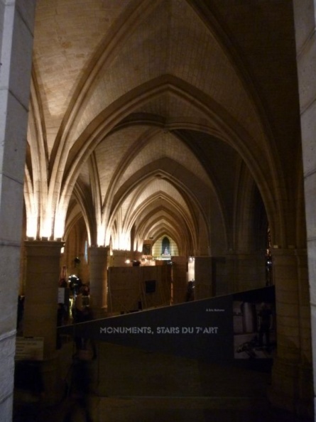
M 307 421 L 270 406 L 267 367 L 220 367 L 107 343 L 80 362 L 72 347 L 60 351 L 58 404 L 16 389 L 13 422 Z

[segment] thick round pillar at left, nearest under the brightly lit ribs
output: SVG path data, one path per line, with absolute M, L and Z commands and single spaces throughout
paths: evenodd
M 26 241 L 26 298 L 23 336 L 43 337 L 41 374 L 45 401 L 58 400 L 56 328 L 60 251 L 63 242 Z

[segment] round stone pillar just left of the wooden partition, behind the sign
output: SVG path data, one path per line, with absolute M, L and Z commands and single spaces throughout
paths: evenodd
M 90 303 L 94 318 L 107 316 L 107 266 L 109 247 L 90 247 Z

